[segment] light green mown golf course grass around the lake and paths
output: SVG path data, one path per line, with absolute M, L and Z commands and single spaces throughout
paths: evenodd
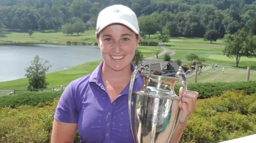
M 2 32 L 0 33 L 0 42 L 45 42 L 51 44 L 66 44 L 66 41 L 71 42 L 85 42 L 87 44 L 93 45 L 96 40 L 94 37 L 94 30 L 86 31 L 79 36 L 66 36 L 61 32 L 35 32 L 31 38 L 27 33 L 18 32 Z M 141 40 L 143 41 L 143 39 Z M 146 41 L 154 41 L 162 43 L 158 39 L 158 34 L 150 35 L 150 38 L 146 37 Z M 246 80 L 246 68 L 252 67 L 256 68 L 256 58 L 242 57 L 239 62 L 240 68 L 235 68 L 235 59 L 230 59 L 222 54 L 222 49 L 225 47 L 225 39 L 218 39 L 216 42 L 210 44 L 209 41 L 204 41 L 203 38 L 184 38 L 175 37 L 170 38 L 170 40 L 163 45 L 166 48 L 166 53 L 171 55 L 171 60 L 182 60 L 183 64 L 186 66 L 190 65 L 190 62 L 185 59 L 185 56 L 190 53 L 195 53 L 199 57 L 206 59 L 206 64 L 217 63 L 218 67 L 215 70 L 210 69 L 207 66 L 205 71 L 203 71 L 199 76 L 197 82 L 234 82 L 234 81 L 245 81 Z M 155 56 L 157 51 L 163 51 L 164 49 L 160 46 L 138 46 L 138 49 L 144 55 L 144 58 L 150 58 Z M 164 54 L 165 52 L 163 52 Z M 159 59 L 155 57 L 155 60 L 162 60 L 163 54 L 159 55 Z M 72 80 L 91 73 L 100 61 L 94 61 L 89 63 L 84 63 L 75 67 L 68 68 L 63 71 L 57 71 L 49 73 L 47 75 L 47 82 L 49 82 L 48 88 L 59 87 L 61 84 L 65 87 Z M 221 73 L 221 68 L 225 67 L 225 73 Z M 194 83 L 194 74 L 188 75 L 189 81 Z M 256 80 L 256 71 L 251 70 L 250 80 Z M 27 79 L 22 78 L 18 80 L 11 80 L 0 82 L 0 90 L 18 90 L 26 89 Z

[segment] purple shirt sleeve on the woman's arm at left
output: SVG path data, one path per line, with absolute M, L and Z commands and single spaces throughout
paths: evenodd
M 77 123 L 78 117 L 75 90 L 72 88 L 71 82 L 63 91 L 58 101 L 54 118 L 60 122 Z

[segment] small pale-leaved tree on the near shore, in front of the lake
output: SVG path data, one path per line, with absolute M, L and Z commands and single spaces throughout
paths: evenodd
M 38 55 L 35 55 L 33 61 L 31 61 L 31 66 L 26 67 L 25 76 L 28 78 L 27 90 L 32 91 L 32 89 L 46 88 L 48 83 L 46 80 L 46 72 L 49 70 L 51 65 L 46 65 L 49 63 L 47 60 L 40 60 Z

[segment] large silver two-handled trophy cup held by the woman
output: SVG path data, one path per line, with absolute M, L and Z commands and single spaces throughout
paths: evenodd
M 132 89 L 137 72 L 145 79 L 141 91 Z M 134 143 L 169 143 L 180 120 L 179 103 L 187 89 L 187 78 L 182 68 L 176 74 L 177 78 L 144 74 L 144 62 L 132 72 L 128 94 L 128 114 Z M 182 77 L 183 93 L 178 97 L 174 86 Z M 132 113 L 133 111 L 133 113 Z M 133 114 L 133 117 L 132 117 Z

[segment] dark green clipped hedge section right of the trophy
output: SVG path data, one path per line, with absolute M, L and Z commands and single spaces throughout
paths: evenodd
M 182 67 L 182 66 L 181 66 Z M 184 68 L 184 67 L 182 67 Z M 190 81 L 189 81 L 190 82 Z M 181 85 L 175 86 L 175 93 L 179 93 Z M 256 81 L 242 81 L 242 82 L 207 82 L 188 84 L 188 90 L 197 91 L 199 93 L 199 99 L 212 97 L 214 95 L 219 96 L 224 91 L 230 90 L 243 90 L 244 93 L 250 95 L 256 93 Z

